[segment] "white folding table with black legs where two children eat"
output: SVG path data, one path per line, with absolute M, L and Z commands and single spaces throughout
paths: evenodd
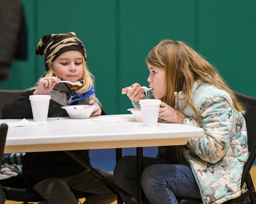
M 104 117 L 122 117 L 122 122 L 93 121 Z M 20 119 L 0 120 L 1 123 Z M 33 121 L 33 119 L 29 119 Z M 48 118 L 44 125 L 8 128 L 5 153 L 41 152 L 78 149 L 137 148 L 138 182 L 142 173 L 142 147 L 184 145 L 188 138 L 204 135 L 202 128 L 160 121 L 156 127 L 144 127 L 131 114 L 102 115 L 88 119 Z M 139 187 L 137 203 L 142 203 Z

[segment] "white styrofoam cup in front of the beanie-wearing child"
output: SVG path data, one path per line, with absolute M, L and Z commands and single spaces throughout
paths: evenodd
M 50 95 L 30 95 L 33 119 L 35 121 L 46 121 L 50 103 Z

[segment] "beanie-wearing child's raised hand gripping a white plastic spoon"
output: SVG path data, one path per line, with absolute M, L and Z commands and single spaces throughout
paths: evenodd
M 39 80 L 34 95 L 44 95 L 52 91 L 55 84 L 59 84 L 60 79 L 57 77 L 43 77 Z

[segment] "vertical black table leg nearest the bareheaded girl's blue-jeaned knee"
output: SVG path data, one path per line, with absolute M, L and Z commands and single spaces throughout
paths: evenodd
M 137 153 L 137 177 L 138 177 L 138 200 L 137 204 L 143 204 L 143 197 L 144 193 L 142 191 L 141 187 L 141 174 L 143 171 L 143 148 L 137 147 L 136 148 Z

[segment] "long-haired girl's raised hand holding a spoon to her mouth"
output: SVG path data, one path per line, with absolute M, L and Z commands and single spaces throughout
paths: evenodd
M 125 87 L 122 90 L 122 94 L 126 94 L 131 100 L 139 102 L 140 99 L 145 98 L 145 93 L 143 91 L 143 88 L 141 88 L 140 84 L 135 83 L 131 85 L 131 89 L 128 89 L 128 87 Z

